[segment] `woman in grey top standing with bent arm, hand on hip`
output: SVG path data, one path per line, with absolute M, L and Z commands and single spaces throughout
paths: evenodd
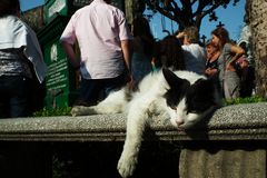
M 228 31 L 222 27 L 211 31 L 211 39 L 220 50 L 218 70 L 222 95 L 226 99 L 238 98 L 240 97 L 240 78 L 236 72 L 235 62 L 245 51 L 230 41 Z

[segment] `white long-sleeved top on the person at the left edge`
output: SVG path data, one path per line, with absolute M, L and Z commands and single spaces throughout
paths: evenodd
M 24 49 L 24 56 L 32 62 L 37 78 L 44 80 L 47 66 L 36 32 L 16 16 L 0 18 L 0 49 Z

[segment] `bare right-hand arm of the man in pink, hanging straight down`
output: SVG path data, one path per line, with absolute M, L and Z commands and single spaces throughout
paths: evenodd
M 130 40 L 121 40 L 120 43 L 121 43 L 121 49 L 122 49 L 127 70 L 130 72 L 131 71 L 131 42 Z

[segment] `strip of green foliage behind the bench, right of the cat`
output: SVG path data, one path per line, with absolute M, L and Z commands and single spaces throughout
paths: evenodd
M 238 103 L 253 103 L 253 102 L 266 102 L 267 98 L 254 96 L 247 98 L 236 98 L 230 100 L 225 100 L 225 106 L 238 105 Z

